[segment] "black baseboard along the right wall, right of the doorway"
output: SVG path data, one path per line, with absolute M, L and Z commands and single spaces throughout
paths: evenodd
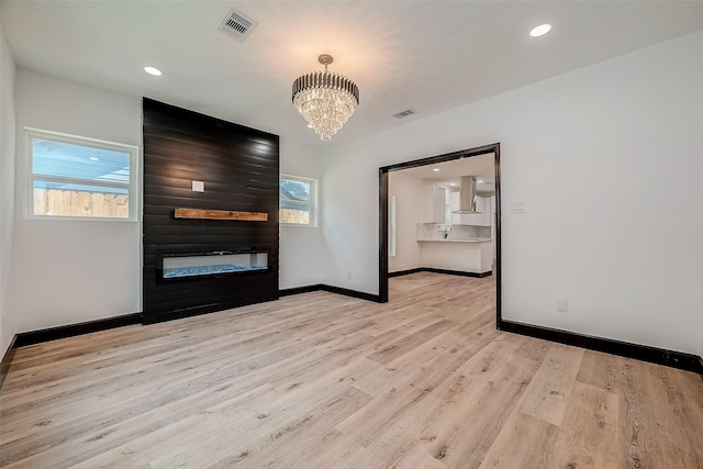
M 501 321 L 499 328 L 504 332 L 544 338 L 546 340 L 558 342 L 559 344 L 573 345 L 576 347 L 588 348 L 590 350 L 604 351 L 606 354 L 620 355 L 621 357 L 634 358 L 636 360 L 649 361 L 651 364 L 665 365 L 667 367 L 679 368 L 703 375 L 703 358 L 698 355 L 649 347 L 646 345 L 631 344 L 610 338 L 593 337 L 590 335 L 576 334 L 572 332 L 515 323 L 505 320 Z

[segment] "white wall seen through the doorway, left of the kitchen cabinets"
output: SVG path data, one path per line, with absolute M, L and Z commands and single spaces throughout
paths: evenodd
M 388 193 L 395 196 L 395 256 L 388 258 L 388 271 L 422 267 L 415 232 L 417 223 L 428 220 L 424 213 L 432 200 L 432 185 L 423 185 L 422 179 L 402 171 L 391 171 Z

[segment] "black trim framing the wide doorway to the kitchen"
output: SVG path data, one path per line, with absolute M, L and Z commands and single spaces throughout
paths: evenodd
M 444 155 L 412 161 L 399 163 L 379 168 L 379 301 L 389 300 L 389 174 L 403 169 L 420 168 L 429 165 L 440 165 L 482 155 L 493 154 L 493 178 L 495 197 L 495 216 L 492 221 L 494 234 L 494 259 L 492 275 L 495 279 L 495 326 L 501 328 L 501 158 L 500 143 L 462 149 Z M 394 210 L 394 206 L 393 206 Z M 395 248 L 393 241 L 393 249 Z

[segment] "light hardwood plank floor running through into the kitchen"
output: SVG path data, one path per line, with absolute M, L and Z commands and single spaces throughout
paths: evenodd
M 492 278 L 414 273 L 16 350 L 11 468 L 703 468 L 703 381 L 495 331 Z

